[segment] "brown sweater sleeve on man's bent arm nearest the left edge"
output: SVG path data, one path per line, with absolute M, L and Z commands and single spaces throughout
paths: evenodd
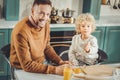
M 13 38 L 15 38 L 14 45 L 23 70 L 27 72 L 55 74 L 55 66 L 44 65 L 41 62 L 32 60 L 28 44 L 26 43 L 27 39 L 23 35 L 18 34 Z

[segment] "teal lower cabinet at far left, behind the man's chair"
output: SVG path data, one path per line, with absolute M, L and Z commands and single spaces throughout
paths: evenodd
M 0 48 L 6 44 L 8 44 L 8 30 L 0 29 Z M 7 71 L 8 71 L 7 65 L 8 64 L 4 60 L 3 56 L 0 55 L 0 80 L 7 80 L 7 79 L 5 79 L 8 74 L 7 73 Z

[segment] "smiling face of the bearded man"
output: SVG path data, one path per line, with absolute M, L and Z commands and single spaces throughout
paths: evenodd
M 32 8 L 32 16 L 35 23 L 40 27 L 45 27 L 45 24 L 48 22 L 51 14 L 51 6 L 50 5 L 35 5 Z

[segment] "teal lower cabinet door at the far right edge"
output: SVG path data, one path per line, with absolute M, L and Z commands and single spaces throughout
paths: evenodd
M 120 26 L 107 27 L 104 45 L 104 49 L 108 54 L 107 62 L 120 62 Z

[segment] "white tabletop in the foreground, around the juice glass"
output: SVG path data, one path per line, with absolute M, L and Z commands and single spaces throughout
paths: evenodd
M 116 67 L 116 68 L 120 67 L 120 63 L 106 64 L 106 65 Z M 15 74 L 16 74 L 17 80 L 63 80 L 64 79 L 63 76 L 59 76 L 59 75 L 30 73 L 30 72 L 25 72 L 23 70 L 15 70 Z M 21 75 L 21 74 L 24 74 L 24 75 Z M 119 78 L 119 76 L 117 78 Z M 72 77 L 71 80 L 86 80 L 86 79 Z M 93 80 L 93 79 L 87 79 L 87 80 Z M 97 77 L 97 79 L 94 79 L 94 80 L 103 80 L 103 79 L 101 79 L 101 77 Z M 104 80 L 113 80 L 113 77 L 108 77 L 107 79 L 105 78 Z M 114 80 L 118 80 L 118 79 L 114 79 Z

